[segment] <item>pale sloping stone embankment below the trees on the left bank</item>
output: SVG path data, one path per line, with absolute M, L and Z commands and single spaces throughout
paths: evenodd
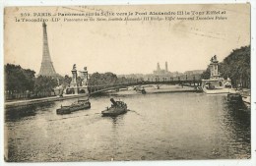
M 5 108 L 15 108 L 20 106 L 28 106 L 32 104 L 39 104 L 39 103 L 46 103 L 52 101 L 60 101 L 64 99 L 71 99 L 71 98 L 79 98 L 79 97 L 86 97 L 89 96 L 88 94 L 78 94 L 78 95 L 67 95 L 63 97 L 59 96 L 52 96 L 52 97 L 44 97 L 44 98 L 36 98 L 36 99 L 28 99 L 28 100 L 18 100 L 18 101 L 7 101 L 5 102 Z

